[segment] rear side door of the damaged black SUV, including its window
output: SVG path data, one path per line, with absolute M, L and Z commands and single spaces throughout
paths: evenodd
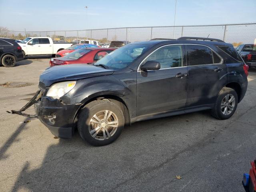
M 186 108 L 207 107 L 216 101 L 228 82 L 228 68 L 223 59 L 204 45 L 185 45 L 188 59 L 188 94 Z

